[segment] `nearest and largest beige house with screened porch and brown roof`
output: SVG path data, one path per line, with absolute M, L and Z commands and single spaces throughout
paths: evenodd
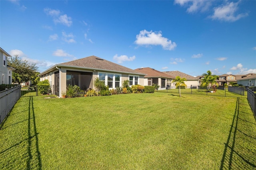
M 61 97 L 66 92 L 68 85 L 78 85 L 80 89 L 96 89 L 93 81 L 99 77 L 110 89 L 121 87 L 124 80 L 129 80 L 130 85 L 144 85 L 144 73 L 112 63 L 94 55 L 66 63 L 56 64 L 40 76 L 40 81 L 48 79 L 54 85 L 54 94 Z

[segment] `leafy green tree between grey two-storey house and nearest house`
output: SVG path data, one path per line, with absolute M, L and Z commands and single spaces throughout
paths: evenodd
M 28 82 L 33 80 L 32 77 L 36 75 L 38 67 L 36 64 L 28 63 L 27 60 L 22 60 L 18 55 L 8 57 L 8 65 L 15 70 L 12 71 L 12 78 L 14 83 Z

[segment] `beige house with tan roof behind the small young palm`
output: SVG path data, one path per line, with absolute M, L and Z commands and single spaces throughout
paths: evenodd
M 185 81 L 184 83 L 187 85 L 187 87 L 198 87 L 200 84 L 199 84 L 199 80 L 197 77 L 193 77 L 191 75 L 188 75 L 186 73 L 182 73 L 180 71 L 163 71 L 163 73 L 166 73 L 172 77 L 175 77 L 176 76 L 180 76 L 180 78 L 186 78 L 187 81 Z M 173 83 L 172 86 L 175 86 L 175 84 Z

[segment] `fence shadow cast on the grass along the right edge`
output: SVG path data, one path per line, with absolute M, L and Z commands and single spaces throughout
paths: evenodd
M 243 117 L 243 113 L 239 112 L 240 107 L 240 98 L 238 97 L 232 125 L 222 155 L 220 170 L 256 168 L 256 158 L 251 156 L 255 154 L 253 153 L 254 149 L 248 148 L 256 144 L 256 138 L 253 137 L 254 132 L 250 134 L 250 129 L 248 129 L 248 126 L 252 125 L 251 122 L 240 118 Z M 244 143 L 248 145 L 244 146 Z

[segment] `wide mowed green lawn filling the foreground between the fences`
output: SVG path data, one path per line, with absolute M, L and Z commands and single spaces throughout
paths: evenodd
M 247 99 L 174 93 L 22 97 L 1 125 L 0 169 L 254 169 Z

